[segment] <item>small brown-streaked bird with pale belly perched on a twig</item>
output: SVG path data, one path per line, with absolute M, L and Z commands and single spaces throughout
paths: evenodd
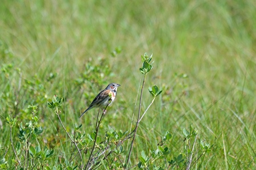
M 105 114 L 105 107 L 113 103 L 115 100 L 115 96 L 117 96 L 117 87 L 121 86 L 117 83 L 110 83 L 104 90 L 102 90 L 92 101 L 92 103 L 89 105 L 88 109 L 84 111 L 86 113 L 92 108 L 101 108 L 104 109 Z M 81 116 L 84 114 L 82 113 Z M 80 116 L 80 117 L 81 117 Z M 79 118 L 80 118 L 79 117 Z

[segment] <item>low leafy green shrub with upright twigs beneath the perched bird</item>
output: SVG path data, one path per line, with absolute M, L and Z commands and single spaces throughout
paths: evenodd
M 139 109 L 137 113 L 137 122 L 131 123 L 133 129 L 126 131 L 104 129 L 104 135 L 99 135 L 100 125 L 104 118 L 104 112 L 98 110 L 97 120 L 94 122 L 95 129 L 90 133 L 83 133 L 82 124 L 73 125 L 70 131 L 63 122 L 63 97 L 57 95 L 52 97 L 48 102 L 48 108 L 55 113 L 61 128 L 67 135 L 67 145 L 65 152 L 61 153 L 57 147 L 48 148 L 42 142 L 42 133 L 49 127 L 39 126 L 40 118 L 37 116 L 36 105 L 28 105 L 30 117 L 27 122 L 19 122 L 11 116 L 6 117 L 9 125 L 11 149 L 2 147 L 1 168 L 15 167 L 15 169 L 191 169 L 200 168 L 205 162 L 205 155 L 210 151 L 210 146 L 204 141 L 197 138 L 198 131 L 191 125 L 188 130 L 184 129 L 184 151 L 179 155 L 172 153 L 172 134 L 169 131 L 162 137 L 158 145 L 149 148 L 148 151 L 142 150 L 139 158 L 132 158 L 137 130 L 144 116 L 150 110 L 156 97 L 162 94 L 162 90 L 156 85 L 149 87 L 152 99 L 151 103 L 142 111 L 143 90 L 146 83 L 147 74 L 153 68 L 152 55 L 142 56 L 142 67 L 139 69 L 143 75 L 141 92 L 139 96 Z M 97 76 L 97 71 L 95 72 Z M 81 80 L 77 81 L 81 82 Z M 42 104 L 42 103 L 38 103 Z M 106 107 L 108 109 L 108 106 Z M 15 129 L 15 130 L 14 130 Z M 18 134 L 13 131 L 19 131 Z M 103 130 L 103 129 L 102 129 Z M 101 133 L 102 134 L 102 133 Z M 62 146 L 65 143 L 61 143 Z M 181 145 L 182 146 L 182 145 Z M 67 151 L 68 150 L 68 151 Z M 7 152 L 13 152 L 11 163 L 6 161 Z M 68 154 L 67 154 L 68 153 Z M 137 163 L 131 164 L 131 159 L 138 160 Z M 53 161 L 54 160 L 54 161 Z M 56 165 L 58 164 L 58 165 Z

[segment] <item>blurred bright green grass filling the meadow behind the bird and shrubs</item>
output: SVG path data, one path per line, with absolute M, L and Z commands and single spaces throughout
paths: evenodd
M 27 107 L 34 104 L 44 128 L 40 143 L 62 155 L 68 139 L 47 101 L 53 95 L 64 97 L 67 130 L 83 124 L 82 131 L 91 133 L 96 109 L 79 119 L 80 113 L 112 82 L 121 87 L 100 135 L 111 128 L 129 130 L 136 121 L 139 67 L 146 52 L 154 54 L 155 62 L 143 109 L 151 101 L 148 87 L 156 84 L 164 91 L 139 126 L 132 163 L 142 150 L 155 148 L 167 130 L 174 135 L 171 151 L 179 154 L 183 128 L 193 125 L 199 138 L 213 145 L 203 169 L 254 169 L 255 7 L 253 0 L 2 1 L 0 145 L 11 148 L 6 117 L 27 122 Z M 119 47 L 121 53 L 112 57 Z M 86 65 L 104 71 L 88 72 Z M 49 79 L 51 73 L 55 76 Z M 17 134 L 18 128 L 13 136 Z M 9 163 L 14 158 L 10 148 Z

